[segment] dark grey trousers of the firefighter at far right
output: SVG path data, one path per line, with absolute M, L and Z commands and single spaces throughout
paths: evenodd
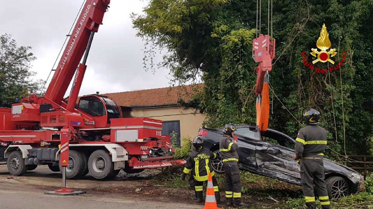
M 309 209 L 316 209 L 316 200 L 313 188 L 316 186 L 317 194 L 323 209 L 330 209 L 329 196 L 325 184 L 323 156 L 316 155 L 304 157 L 300 160 L 301 181 L 306 205 Z

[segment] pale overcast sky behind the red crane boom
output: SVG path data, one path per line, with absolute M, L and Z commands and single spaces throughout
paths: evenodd
M 32 46 L 31 52 L 37 57 L 32 70 L 37 78 L 46 80 L 83 0 L 0 2 L 0 34 L 12 34 L 19 46 Z M 80 95 L 169 86 L 169 70 L 157 69 L 155 75 L 145 72 L 144 43 L 132 28 L 130 14 L 142 13 L 147 2 L 111 0 L 93 39 Z M 157 55 L 156 60 L 159 62 L 161 56 Z

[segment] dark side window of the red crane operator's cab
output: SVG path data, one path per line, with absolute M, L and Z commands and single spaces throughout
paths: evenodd
M 103 103 L 94 96 L 81 97 L 78 107 L 92 116 L 106 115 Z

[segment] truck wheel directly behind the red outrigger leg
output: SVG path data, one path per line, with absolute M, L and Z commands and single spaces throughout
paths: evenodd
M 75 150 L 69 150 L 69 165 L 66 167 L 66 178 L 71 179 L 74 177 L 82 176 L 84 172 L 84 157 L 81 152 Z M 62 166 L 60 165 L 60 171 L 62 172 Z

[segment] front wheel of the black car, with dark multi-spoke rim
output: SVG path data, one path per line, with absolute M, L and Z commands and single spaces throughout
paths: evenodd
M 347 180 L 339 176 L 326 179 L 326 189 L 330 199 L 342 198 L 347 196 L 350 191 Z

